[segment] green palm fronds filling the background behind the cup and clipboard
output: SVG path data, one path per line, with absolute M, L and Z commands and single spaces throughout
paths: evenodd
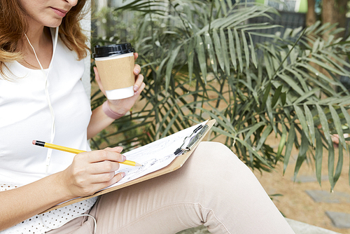
M 258 170 L 269 171 L 283 160 L 285 172 L 296 147 L 295 177 L 302 163 L 313 161 L 321 184 L 327 149 L 334 188 L 343 154 L 349 152 L 344 133 L 350 132 L 350 97 L 338 77 L 350 76 L 344 59 L 350 38 L 332 36 L 344 29 L 332 31 L 334 25 L 316 22 L 306 29 L 286 29 L 283 35 L 263 34 L 259 30 L 280 26 L 251 24 L 249 19 L 278 12 L 252 2 L 127 1 L 107 12 L 110 17 L 130 11 L 138 22 L 129 30 L 132 35 L 120 39 L 118 31 L 109 32 L 113 36 L 97 36 L 92 46 L 125 40 L 133 44 L 145 76 L 144 108 L 115 121 L 118 132 L 104 139 L 125 133 L 115 144 L 132 148 L 214 118 L 209 140 L 225 137 L 225 144 Z M 324 41 L 322 35 L 329 32 Z M 255 35 L 268 40 L 254 44 Z M 98 92 L 92 95 L 92 107 L 104 101 Z M 339 135 L 337 157 L 333 134 Z M 276 150 L 267 143 L 270 135 L 281 139 Z

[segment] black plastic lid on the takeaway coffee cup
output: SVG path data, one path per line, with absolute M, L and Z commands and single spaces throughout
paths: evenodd
M 130 43 L 123 44 L 114 44 L 108 46 L 95 46 L 94 54 L 92 55 L 94 58 L 96 57 L 109 57 L 113 55 L 124 55 L 127 53 L 134 53 L 135 50 L 132 48 Z

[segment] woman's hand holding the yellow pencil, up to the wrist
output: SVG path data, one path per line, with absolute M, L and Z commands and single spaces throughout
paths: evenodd
M 119 162 L 126 160 L 123 147 L 79 153 L 73 163 L 62 171 L 62 183 L 71 198 L 92 195 L 102 188 L 115 184 L 125 173 L 115 174 Z

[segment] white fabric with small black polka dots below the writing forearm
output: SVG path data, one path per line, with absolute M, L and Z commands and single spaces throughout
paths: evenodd
M 0 185 L 0 191 L 6 191 L 17 187 L 18 186 L 8 186 L 2 184 Z M 0 233 L 43 234 L 49 230 L 59 228 L 68 221 L 71 221 L 71 219 L 74 219 L 74 217 L 87 212 L 92 207 L 92 205 L 94 205 L 94 202 L 96 202 L 96 200 L 97 197 L 94 197 L 71 205 L 67 205 L 66 207 L 46 212 L 44 214 L 32 216 L 30 219 L 22 221 L 21 223 L 18 223 L 11 228 L 0 231 Z

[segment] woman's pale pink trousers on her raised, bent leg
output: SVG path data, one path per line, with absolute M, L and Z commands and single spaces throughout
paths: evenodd
M 226 146 L 202 142 L 179 170 L 102 195 L 89 214 L 97 234 L 294 233 L 251 170 Z M 49 234 L 93 232 L 80 217 Z

